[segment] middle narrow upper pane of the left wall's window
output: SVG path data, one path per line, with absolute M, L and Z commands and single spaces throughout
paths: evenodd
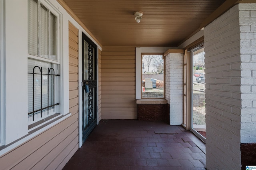
M 49 22 L 48 10 L 41 5 L 40 7 L 40 55 L 49 58 Z

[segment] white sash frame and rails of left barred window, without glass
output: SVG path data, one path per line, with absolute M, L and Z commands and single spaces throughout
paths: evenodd
M 59 74 L 60 74 L 60 77 L 58 79 L 58 82 L 57 82 L 57 86 L 55 87 L 55 89 L 59 89 L 59 92 L 56 90 L 55 92 L 55 96 L 58 96 L 59 98 L 59 101 L 60 101 L 60 105 L 58 106 L 59 109 L 57 109 L 58 112 L 55 112 L 55 113 L 60 113 L 58 116 L 52 118 L 52 119 L 56 119 L 60 116 L 63 115 L 63 83 L 61 83 L 63 81 L 63 74 L 62 74 L 62 62 L 61 62 L 61 51 L 60 51 L 60 45 L 61 45 L 61 36 L 60 36 L 60 25 L 61 25 L 61 21 L 60 21 L 60 18 L 61 18 L 61 14 L 58 12 L 58 10 L 56 8 L 54 8 L 54 6 L 52 6 L 52 4 L 50 4 L 48 1 L 44 1 L 44 0 L 37 0 L 38 1 L 38 43 L 39 43 L 39 55 L 31 55 L 31 54 L 28 54 L 28 59 L 35 59 L 35 60 L 38 60 L 38 61 L 42 61 L 42 62 L 46 62 L 46 63 L 53 63 L 53 64 L 57 64 L 60 71 L 59 71 Z M 51 60 L 51 58 L 49 57 L 49 59 L 46 59 L 46 58 L 43 58 L 43 57 L 40 57 L 40 7 L 41 7 L 41 4 L 47 8 L 49 11 L 48 11 L 48 14 L 50 15 L 51 13 L 54 14 L 56 16 L 56 57 L 57 57 L 57 61 L 54 61 L 54 60 Z M 48 21 L 50 22 L 50 20 Z M 48 32 L 49 32 L 49 40 L 50 41 L 50 25 L 48 27 Z M 50 48 L 48 49 L 49 51 L 49 56 L 50 56 Z M 56 80 L 57 81 L 57 80 Z M 56 93 L 58 93 L 58 95 L 56 95 Z M 55 104 L 55 103 L 54 103 Z M 46 120 L 46 121 L 42 121 L 44 119 L 38 119 L 38 120 L 34 120 L 33 123 L 28 123 L 28 125 L 32 125 L 29 129 L 28 129 L 28 132 L 52 121 L 52 119 L 49 119 L 49 120 Z M 39 123 L 39 125 L 33 125 L 33 124 L 38 124 L 37 122 L 39 121 L 42 121 Z

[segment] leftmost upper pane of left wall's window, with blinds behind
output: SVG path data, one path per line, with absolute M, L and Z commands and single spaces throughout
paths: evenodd
M 37 1 L 28 1 L 28 53 L 38 55 L 38 5 Z

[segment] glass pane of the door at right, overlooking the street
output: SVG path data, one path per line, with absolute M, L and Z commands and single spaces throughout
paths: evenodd
M 191 58 L 191 131 L 201 140 L 206 139 L 204 45 L 192 50 Z

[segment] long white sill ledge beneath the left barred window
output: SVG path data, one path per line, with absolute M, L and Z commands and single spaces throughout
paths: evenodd
M 19 146 L 20 144 L 26 142 L 27 140 L 33 138 L 34 136 L 44 132 L 45 130 L 47 130 L 48 128 L 53 127 L 54 125 L 60 123 L 61 121 L 64 121 L 65 119 L 67 119 L 68 117 L 70 117 L 71 113 L 67 113 L 66 115 L 57 115 L 55 117 L 55 119 L 51 119 L 49 122 L 43 124 L 43 125 L 38 125 L 35 128 L 31 128 L 28 132 L 28 134 L 26 134 L 25 136 L 11 142 L 10 144 L 4 145 L 4 146 L 0 146 L 0 156 L 2 154 L 5 154 L 6 152 L 8 152 L 9 150 L 12 150 L 13 148 L 16 148 L 17 146 Z

